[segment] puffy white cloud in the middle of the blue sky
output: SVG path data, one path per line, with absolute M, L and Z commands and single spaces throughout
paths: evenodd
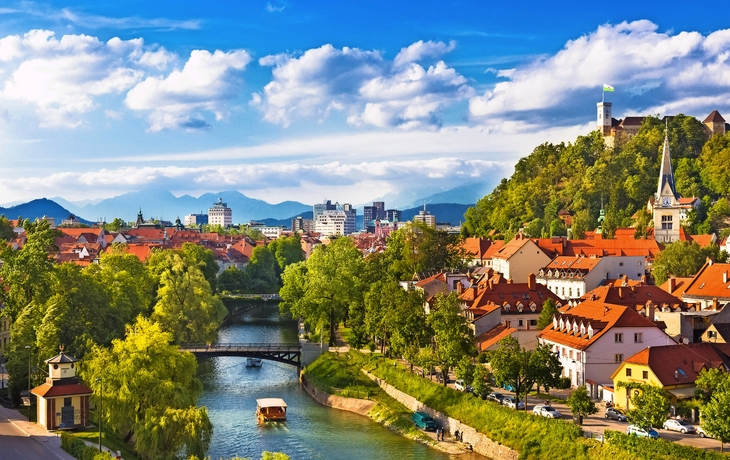
M 403 48 L 394 61 L 378 51 L 332 45 L 301 56 L 279 54 L 259 60 L 272 66 L 273 80 L 251 103 L 264 119 L 287 126 L 296 117 L 325 118 L 335 109 L 351 124 L 415 128 L 437 126 L 440 111 L 472 95 L 466 79 L 443 61 L 424 67 L 455 43 L 419 41 Z

